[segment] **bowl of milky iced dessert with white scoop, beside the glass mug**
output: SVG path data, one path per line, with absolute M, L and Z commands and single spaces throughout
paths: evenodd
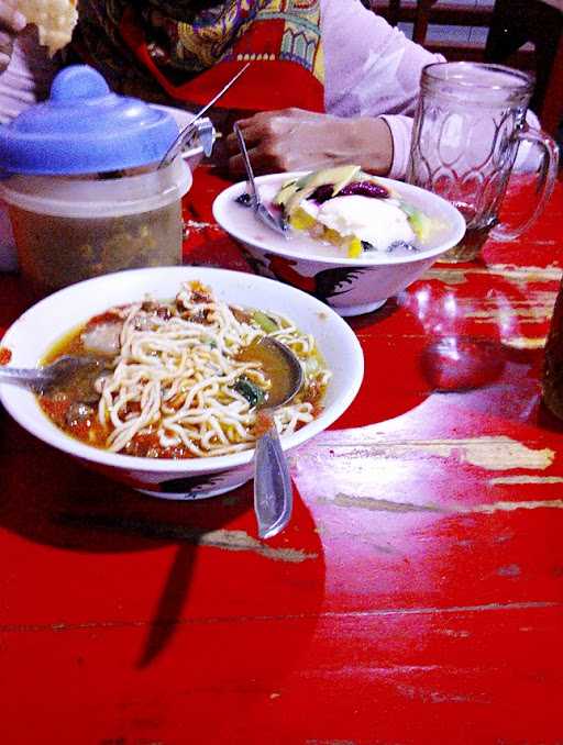
M 279 208 L 275 200 L 284 185 L 305 177 L 306 171 L 267 174 L 258 176 L 256 185 L 264 203 L 276 212 Z M 351 199 L 364 200 L 360 209 L 356 203 L 353 216 L 345 219 L 345 213 L 338 219 L 333 216 L 334 225 L 339 225 L 342 234 L 353 234 L 361 226 L 364 230 L 369 226 L 369 232 L 379 236 L 379 249 L 372 246 L 354 257 L 343 247 L 347 245 L 350 236 L 339 236 L 334 230 L 327 231 L 327 234 L 335 234 L 339 236 L 336 240 L 334 235 L 331 238 L 324 234 L 313 235 L 319 229 L 319 224 L 314 224 L 316 220 L 312 220 L 314 226 L 309 230 L 291 225 L 290 220 L 290 229 L 286 235 L 272 231 L 256 219 L 247 202 L 238 202 L 247 191 L 246 181 L 233 184 L 216 198 L 213 216 L 240 244 L 257 274 L 310 292 L 340 315 L 372 313 L 384 305 L 388 298 L 395 297 L 419 279 L 434 262 L 461 241 L 465 232 L 462 214 L 445 199 L 410 184 L 383 177 L 373 178 L 379 188 L 388 190 L 391 199 L 336 197 L 336 200 L 343 200 L 344 203 Z M 325 185 L 320 188 L 325 188 Z M 301 203 L 316 203 L 313 196 L 311 194 L 312 201 L 303 199 Z M 324 208 L 331 201 L 325 202 Z M 385 207 L 387 201 L 396 202 L 390 208 L 391 216 L 374 211 L 377 205 Z M 401 213 L 397 208 L 399 201 L 404 209 L 416 213 L 419 220 L 423 219 L 426 225 L 424 237 L 417 237 L 412 244 L 406 241 L 391 243 L 394 215 Z M 307 216 L 310 215 L 306 214 Z M 411 232 L 410 227 L 408 231 Z M 356 242 L 362 245 L 365 243 L 358 238 Z M 384 249 L 387 242 L 389 245 Z

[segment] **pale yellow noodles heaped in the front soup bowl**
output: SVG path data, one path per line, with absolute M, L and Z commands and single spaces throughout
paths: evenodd
M 256 412 L 233 387 L 241 376 L 262 389 L 269 386 L 260 363 L 238 359 L 243 347 L 265 335 L 251 314 L 218 301 L 198 282 L 184 286 L 172 303 L 145 301 L 121 313 L 115 367 L 97 381 L 98 418 L 111 430 L 109 449 L 131 452 L 132 441 L 142 436 L 155 437 L 158 451 L 181 447 L 196 457 L 252 447 Z M 312 336 L 289 319 L 268 316 L 276 325 L 268 335 L 287 344 L 306 371 L 301 393 L 276 412 L 278 431 L 291 433 L 313 419 L 307 391 L 324 389 L 330 372 Z

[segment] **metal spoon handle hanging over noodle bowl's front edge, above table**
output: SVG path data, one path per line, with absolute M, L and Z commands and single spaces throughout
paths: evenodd
M 269 429 L 256 441 L 254 454 L 254 511 L 261 538 L 272 538 L 284 530 L 294 502 L 287 459 L 272 415 L 271 419 Z

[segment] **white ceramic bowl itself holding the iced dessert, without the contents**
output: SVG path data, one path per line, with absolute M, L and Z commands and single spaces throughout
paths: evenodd
M 305 173 L 305 171 L 303 171 Z M 261 197 L 267 203 L 284 181 L 301 173 L 272 174 L 256 179 Z M 256 271 L 295 285 L 327 302 L 341 315 L 358 315 L 380 308 L 387 298 L 418 279 L 435 259 L 455 246 L 465 233 L 462 214 L 441 197 L 419 187 L 380 178 L 406 201 L 441 223 L 423 249 L 409 255 L 371 252 L 369 256 L 350 259 L 336 256 L 311 256 L 303 238 L 292 232 L 289 238 L 258 222 L 252 210 L 235 202 L 246 190 L 242 181 L 222 191 L 213 204 L 217 222 L 245 249 Z M 307 236 L 306 243 L 310 242 Z

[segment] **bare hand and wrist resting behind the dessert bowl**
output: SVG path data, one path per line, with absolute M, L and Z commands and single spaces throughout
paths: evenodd
M 312 170 L 355 163 L 387 174 L 393 138 L 383 119 L 342 119 L 302 109 L 261 112 L 239 121 L 256 174 Z M 244 174 L 235 135 L 227 138 L 229 173 Z

